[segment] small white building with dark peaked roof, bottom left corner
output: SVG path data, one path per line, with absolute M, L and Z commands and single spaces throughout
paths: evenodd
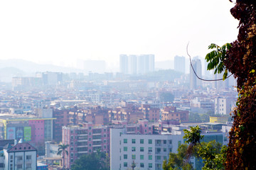
M 18 143 L 4 148 L 4 170 L 34 170 L 36 169 L 36 148 L 28 143 Z

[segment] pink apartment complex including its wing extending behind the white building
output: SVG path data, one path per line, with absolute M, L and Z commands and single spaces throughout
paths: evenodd
M 83 123 L 80 126 L 63 126 L 62 143 L 69 145 L 65 155 L 65 167 L 70 168 L 83 154 L 101 152 L 110 154 L 110 128 L 126 128 L 127 134 L 153 134 L 154 125 L 148 120 L 139 120 L 137 124 L 127 124 L 127 121 L 116 120 L 115 125 L 93 125 Z

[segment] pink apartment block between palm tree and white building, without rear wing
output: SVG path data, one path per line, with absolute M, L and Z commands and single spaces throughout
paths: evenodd
M 68 155 L 65 156 L 65 167 L 71 164 L 83 154 L 97 152 L 98 149 L 110 153 L 110 127 L 84 123 L 80 126 L 64 126 L 62 130 L 62 142 L 68 147 Z

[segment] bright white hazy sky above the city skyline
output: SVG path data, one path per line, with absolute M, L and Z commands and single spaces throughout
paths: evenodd
M 119 63 L 119 54 L 156 61 L 204 57 L 211 42 L 238 35 L 228 0 L 0 1 L 0 60 L 75 66 L 77 59 Z M 186 56 L 187 57 L 187 56 Z

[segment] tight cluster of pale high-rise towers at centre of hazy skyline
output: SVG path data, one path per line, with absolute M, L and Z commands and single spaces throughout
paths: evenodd
M 119 70 L 139 75 L 154 72 L 154 55 L 119 55 Z

